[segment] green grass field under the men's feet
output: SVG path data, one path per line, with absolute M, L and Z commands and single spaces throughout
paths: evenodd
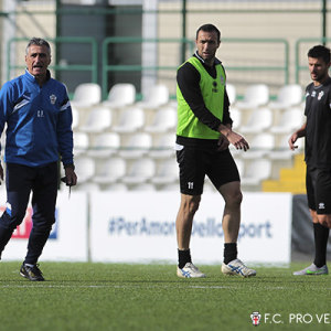
M 46 281 L 31 282 L 1 261 L 0 330 L 245 331 L 253 311 L 258 330 L 331 330 L 331 275 L 291 276 L 306 266 L 247 279 L 200 266 L 207 278 L 180 279 L 171 265 L 42 263 Z

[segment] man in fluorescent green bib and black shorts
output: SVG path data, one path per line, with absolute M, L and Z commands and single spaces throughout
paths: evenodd
M 237 258 L 241 225 L 241 179 L 228 145 L 246 151 L 244 137 L 232 130 L 226 76 L 215 57 L 221 33 L 212 24 L 196 31 L 196 52 L 177 75 L 178 128 L 177 160 L 180 168 L 181 205 L 177 216 L 179 277 L 205 277 L 193 265 L 190 239 L 193 217 L 199 209 L 204 178 L 207 175 L 225 201 L 223 215 L 225 275 L 255 276 Z

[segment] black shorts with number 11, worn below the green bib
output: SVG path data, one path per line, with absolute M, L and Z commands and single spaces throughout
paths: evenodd
M 239 181 L 237 166 L 228 149 L 183 146 L 177 151 L 180 168 L 181 193 L 201 195 L 204 178 L 207 175 L 218 190 L 222 185 Z

